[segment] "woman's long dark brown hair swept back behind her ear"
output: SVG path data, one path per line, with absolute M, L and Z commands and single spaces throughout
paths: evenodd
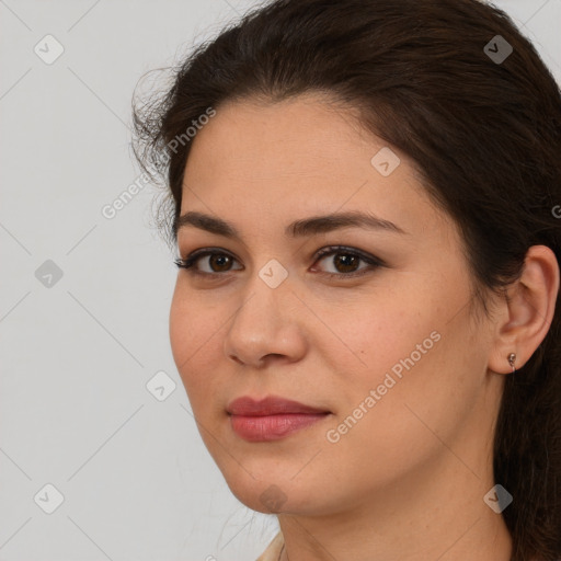
M 496 35 L 513 48 L 504 60 L 490 56 L 506 53 Z M 277 0 L 195 48 L 171 88 L 134 110 L 135 154 L 165 184 L 169 240 L 193 121 L 226 101 L 304 92 L 356 108 L 412 159 L 460 228 L 485 313 L 483 295 L 504 295 L 528 248 L 561 262 L 560 89 L 512 20 L 477 0 Z M 558 294 L 547 336 L 506 377 L 497 419 L 494 477 L 514 496 L 502 513 L 514 561 L 561 559 L 560 321 Z

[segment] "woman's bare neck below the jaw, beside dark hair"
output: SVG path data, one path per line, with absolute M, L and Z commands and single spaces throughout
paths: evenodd
M 512 538 L 483 496 L 492 473 L 478 476 L 445 450 L 408 482 L 383 485 L 353 508 L 279 514 L 282 561 L 510 561 Z M 491 471 L 491 470 L 489 470 Z

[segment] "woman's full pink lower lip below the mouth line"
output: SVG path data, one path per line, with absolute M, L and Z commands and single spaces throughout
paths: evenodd
M 279 440 L 285 436 L 321 421 L 329 413 L 283 413 L 266 416 L 230 415 L 233 431 L 244 440 L 261 443 Z

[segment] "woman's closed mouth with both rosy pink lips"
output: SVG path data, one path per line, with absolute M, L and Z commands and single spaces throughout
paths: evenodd
M 260 401 L 250 397 L 239 398 L 228 405 L 227 412 L 232 430 L 248 442 L 278 440 L 332 414 L 331 411 L 276 396 Z

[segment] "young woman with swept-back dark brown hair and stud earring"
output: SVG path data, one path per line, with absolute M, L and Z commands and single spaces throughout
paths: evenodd
M 135 124 L 260 559 L 560 559 L 561 95 L 506 14 L 270 2 Z

